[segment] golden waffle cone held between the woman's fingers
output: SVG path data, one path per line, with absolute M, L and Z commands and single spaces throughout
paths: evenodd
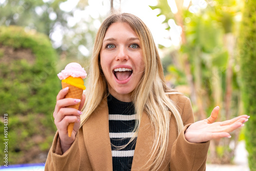
M 75 98 L 75 99 L 81 99 L 82 98 L 82 92 L 83 92 L 82 89 L 79 89 L 79 88 L 77 88 L 75 86 L 72 86 L 71 84 L 68 84 L 66 82 L 61 82 L 61 85 L 62 85 L 62 89 L 66 88 L 66 87 L 69 87 L 69 92 L 65 96 L 65 98 Z M 80 105 L 80 102 L 75 104 L 75 105 L 67 106 L 67 108 L 75 108 L 75 109 L 78 110 L 79 105 Z M 71 134 L 73 132 L 73 128 L 74 128 L 74 123 L 70 123 L 68 125 L 69 137 L 71 137 Z

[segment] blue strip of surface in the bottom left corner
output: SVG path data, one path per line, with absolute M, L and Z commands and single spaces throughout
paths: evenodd
M 45 164 L 43 163 L 31 163 L 31 164 L 14 164 L 8 165 L 8 167 L 0 166 L 1 171 L 43 171 L 45 170 Z

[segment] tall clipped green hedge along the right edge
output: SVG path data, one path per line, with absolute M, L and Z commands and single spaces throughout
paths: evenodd
M 243 11 L 240 32 L 240 62 L 244 113 L 250 116 L 246 123 L 245 140 L 250 169 L 256 170 L 256 2 L 247 1 Z

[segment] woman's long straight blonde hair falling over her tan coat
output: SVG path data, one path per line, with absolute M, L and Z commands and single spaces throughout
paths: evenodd
M 150 160 L 153 159 L 153 156 L 156 157 L 153 159 L 154 162 L 150 167 L 156 170 L 163 163 L 167 151 L 170 121 L 169 112 L 176 118 L 178 132 L 181 131 L 183 122 L 176 105 L 167 95 L 172 94 L 170 93 L 172 91 L 166 86 L 161 60 L 153 36 L 142 20 L 133 14 L 112 14 L 103 21 L 98 30 L 92 54 L 92 64 L 88 74 L 88 84 L 90 87 L 86 91 L 86 103 L 83 108 L 83 115 L 81 116 L 81 125 L 90 117 L 101 100 L 109 94 L 107 83 L 100 67 L 99 55 L 106 30 L 108 30 L 111 24 L 116 22 L 129 24 L 141 42 L 145 70 L 138 86 L 132 92 L 135 111 L 139 116 L 134 133 L 135 136 L 138 134 L 139 124 L 144 111 L 147 113 L 154 127 L 155 135 Z M 132 142 L 135 136 L 130 142 Z

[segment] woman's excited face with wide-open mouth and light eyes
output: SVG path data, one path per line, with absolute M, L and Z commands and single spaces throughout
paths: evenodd
M 144 72 L 140 40 L 127 23 L 113 23 L 106 31 L 100 51 L 100 65 L 111 95 L 132 101 L 131 94 Z

